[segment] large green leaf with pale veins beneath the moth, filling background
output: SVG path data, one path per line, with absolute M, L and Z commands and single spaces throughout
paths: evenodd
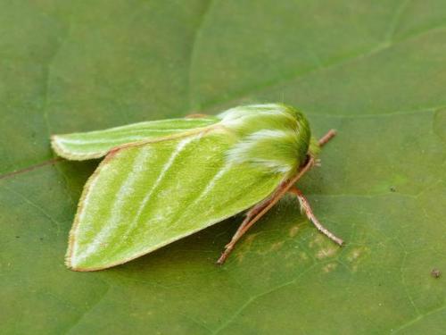
M 23 0 L 0 19 L 0 332 L 443 332 L 444 1 Z M 289 198 L 222 267 L 240 218 L 65 268 L 97 163 L 49 161 L 50 134 L 270 101 L 338 130 L 300 187 L 345 247 Z

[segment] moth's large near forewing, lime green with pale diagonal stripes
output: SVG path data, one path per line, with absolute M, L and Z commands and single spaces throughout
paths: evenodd
M 232 141 L 216 128 L 109 154 L 87 182 L 67 265 L 93 271 L 128 262 L 268 197 L 284 175 L 227 162 Z

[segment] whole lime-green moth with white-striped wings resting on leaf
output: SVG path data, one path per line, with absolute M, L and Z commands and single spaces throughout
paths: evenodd
M 52 147 L 66 159 L 105 157 L 80 198 L 66 264 L 75 271 L 123 264 L 247 211 L 221 264 L 287 192 L 318 230 L 342 245 L 294 187 L 334 135 L 330 130 L 316 140 L 303 113 L 278 104 L 55 135 Z

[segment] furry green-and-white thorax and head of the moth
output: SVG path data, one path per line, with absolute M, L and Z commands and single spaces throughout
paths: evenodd
M 288 105 L 245 105 L 219 114 L 221 124 L 235 134 L 227 150 L 231 163 L 250 163 L 272 173 L 293 174 L 316 155 L 310 124 L 300 111 Z

